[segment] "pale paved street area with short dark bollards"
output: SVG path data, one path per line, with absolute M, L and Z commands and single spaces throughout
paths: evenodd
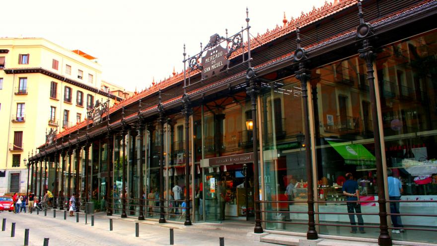
M 236 237 L 231 233 L 215 230 L 191 230 L 180 224 L 158 224 L 154 221 L 137 221 L 134 218 L 121 219 L 119 216 L 106 216 L 104 213 L 95 215 L 94 227 L 91 227 L 91 216 L 85 225 L 84 213 L 79 213 L 79 223 L 76 217 L 64 220 L 64 212 L 57 211 L 53 218 L 53 210 L 44 211 L 39 215 L 0 213 L 0 223 L 6 218 L 6 231 L 0 231 L 0 242 L 7 246 L 22 246 L 24 229 L 30 229 L 29 245 L 42 246 L 44 238 L 50 238 L 49 246 L 162 246 L 169 245 L 169 228 L 174 228 L 174 245 L 179 246 L 214 246 L 219 245 L 219 237 L 224 237 L 225 246 L 272 246 L 251 240 L 245 233 Z M 109 218 L 113 218 L 113 231 L 109 231 Z M 15 222 L 15 237 L 11 238 L 11 223 Z M 140 237 L 135 237 L 135 222 L 140 222 Z M 229 236 L 229 237 L 226 237 Z

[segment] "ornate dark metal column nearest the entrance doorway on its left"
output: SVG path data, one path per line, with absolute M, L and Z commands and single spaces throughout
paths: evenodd
M 182 96 L 182 103 L 184 104 L 184 109 L 182 110 L 182 114 L 185 116 L 185 187 L 187 189 L 187 193 L 185 195 L 185 204 L 186 204 L 186 214 L 185 214 L 185 226 L 191 226 L 191 216 L 190 216 L 190 145 L 188 137 L 190 135 L 190 126 L 189 119 L 191 114 L 190 108 L 190 99 L 188 98 L 188 94 L 184 93 Z

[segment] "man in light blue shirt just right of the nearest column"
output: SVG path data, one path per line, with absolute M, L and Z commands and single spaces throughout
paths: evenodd
M 390 201 L 400 201 L 401 200 L 401 194 L 404 191 L 402 189 L 402 183 L 398 178 L 393 177 L 393 171 L 391 169 L 387 170 L 387 184 L 388 184 L 388 197 Z M 399 212 L 399 202 L 390 202 L 390 213 L 391 215 L 391 222 L 393 223 L 393 227 L 395 228 L 403 228 L 402 220 L 399 215 L 393 215 L 393 214 L 400 214 Z M 404 229 L 393 229 L 391 230 L 392 233 L 401 233 L 405 232 Z

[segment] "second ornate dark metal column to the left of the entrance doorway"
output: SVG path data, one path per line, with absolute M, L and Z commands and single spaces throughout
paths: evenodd
M 164 217 L 164 123 L 166 121 L 164 117 L 164 107 L 161 103 L 161 90 L 159 90 L 159 223 L 166 223 Z

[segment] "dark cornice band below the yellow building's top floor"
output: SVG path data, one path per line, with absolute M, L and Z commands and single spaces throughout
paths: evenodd
M 80 88 L 92 91 L 94 93 L 110 97 L 110 98 L 115 99 L 117 101 L 122 101 L 123 100 L 123 98 L 121 98 L 119 96 L 116 96 L 114 94 L 108 94 L 107 92 L 105 92 L 103 90 L 100 90 L 100 89 L 97 89 L 95 87 L 83 84 L 81 82 L 74 81 L 74 80 L 69 79 L 69 78 L 67 78 L 65 76 L 53 73 L 53 72 L 48 71 L 48 70 L 43 69 L 43 68 L 16 68 L 16 69 L 6 68 L 6 69 L 3 69 L 3 71 L 4 71 L 5 74 L 37 74 L 37 73 L 38 74 L 43 74 L 43 75 L 46 75 L 46 76 L 51 77 L 53 79 L 56 79 L 56 80 L 59 80 L 59 81 L 64 81 L 64 82 L 73 84 L 73 85 L 75 85 L 77 87 L 80 87 Z

